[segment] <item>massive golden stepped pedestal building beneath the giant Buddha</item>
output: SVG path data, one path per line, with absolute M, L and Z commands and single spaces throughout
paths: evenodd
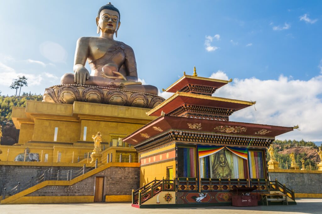
M 12 119 L 20 129 L 19 141 L 13 146 L 0 146 L 4 151 L 2 160 L 14 161 L 29 148 L 39 154 L 40 162 L 81 162 L 93 150 L 92 135 L 100 131 L 101 149 L 112 149 L 113 161 L 120 153 L 123 158 L 132 154 L 132 161 L 137 161 L 137 152 L 119 138 L 156 118 L 147 116 L 148 110 L 87 102 L 71 105 L 28 101 L 26 107 L 13 107 Z M 107 161 L 107 153 L 102 153 L 102 159 Z

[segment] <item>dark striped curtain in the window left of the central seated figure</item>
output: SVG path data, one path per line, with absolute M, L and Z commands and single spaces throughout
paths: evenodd
M 194 148 L 180 148 L 183 150 L 183 176 L 196 177 L 195 150 Z

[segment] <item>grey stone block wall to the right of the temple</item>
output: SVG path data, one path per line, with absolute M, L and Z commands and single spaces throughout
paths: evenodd
M 322 193 L 321 173 L 269 172 L 269 175 L 271 181 L 277 179 L 294 193 Z

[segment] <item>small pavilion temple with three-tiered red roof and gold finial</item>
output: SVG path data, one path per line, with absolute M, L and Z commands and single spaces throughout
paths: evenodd
M 132 192 L 132 206 L 232 205 L 238 189 L 257 204 L 270 193 L 266 148 L 294 127 L 229 121 L 255 104 L 212 96 L 231 81 L 198 77 L 195 68 L 193 75 L 184 73 L 163 90 L 174 94 L 147 112 L 158 118 L 123 139 L 139 153 L 140 188 Z M 285 194 L 295 202 L 291 190 Z

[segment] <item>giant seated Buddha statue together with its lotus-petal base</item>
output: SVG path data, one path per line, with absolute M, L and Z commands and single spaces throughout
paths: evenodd
M 149 108 L 162 102 L 164 99 L 157 96 L 155 86 L 142 85 L 137 81 L 133 49 L 114 40 L 114 34 L 117 37 L 121 24 L 119 10 L 111 3 L 102 6 L 96 24 L 100 36 L 78 39 L 74 73 L 64 74 L 61 85 L 46 89 L 43 100 L 70 104 L 87 101 Z M 91 74 L 85 68 L 86 60 L 90 64 Z M 136 98 L 131 100 L 134 93 Z M 142 96 L 144 98 L 137 99 Z

